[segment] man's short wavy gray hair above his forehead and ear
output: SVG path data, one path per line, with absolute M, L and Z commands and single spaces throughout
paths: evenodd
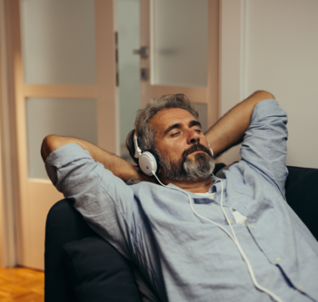
M 185 111 L 190 112 L 196 120 L 199 117 L 199 113 L 194 108 L 194 105 L 181 93 L 163 95 L 161 98 L 146 104 L 143 109 L 137 112 L 134 119 L 134 130 L 129 132 L 126 138 L 126 147 L 130 156 L 137 164 L 138 159 L 134 158 L 134 132 L 136 132 L 139 148 L 142 151 L 152 151 L 153 154 L 158 156 L 158 151 L 155 148 L 154 142 L 156 130 L 150 126 L 149 122 L 157 112 L 168 108 L 184 109 Z

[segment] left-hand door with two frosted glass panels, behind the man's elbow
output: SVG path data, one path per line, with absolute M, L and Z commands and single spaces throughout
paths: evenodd
M 49 133 L 118 153 L 112 0 L 10 0 L 19 204 L 17 262 L 44 268 L 45 219 L 63 196 L 40 157 Z

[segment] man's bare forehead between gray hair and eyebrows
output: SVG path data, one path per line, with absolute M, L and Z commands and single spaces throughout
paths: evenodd
M 164 132 L 165 129 L 174 123 L 188 124 L 191 121 L 196 121 L 196 119 L 190 112 L 181 108 L 165 108 L 155 113 L 149 124 L 157 132 Z

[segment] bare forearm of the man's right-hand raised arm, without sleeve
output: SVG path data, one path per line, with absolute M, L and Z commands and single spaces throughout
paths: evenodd
M 244 133 L 250 126 L 254 106 L 258 102 L 273 98 L 272 93 L 257 91 L 243 102 L 238 103 L 216 122 L 205 133 L 206 139 L 214 151 L 214 156 L 217 157 L 242 142 Z

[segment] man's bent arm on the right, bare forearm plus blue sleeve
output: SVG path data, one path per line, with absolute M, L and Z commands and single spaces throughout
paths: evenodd
M 262 173 L 284 194 L 284 183 L 288 175 L 285 163 L 288 137 L 286 124 L 287 114 L 273 99 L 273 95 L 256 92 L 225 114 L 215 125 L 219 128 L 222 125 L 221 132 L 217 133 L 210 145 L 219 155 L 220 150 L 225 151 L 243 141 L 240 151 L 243 161 Z M 210 138 L 215 132 L 214 127 L 209 133 Z

